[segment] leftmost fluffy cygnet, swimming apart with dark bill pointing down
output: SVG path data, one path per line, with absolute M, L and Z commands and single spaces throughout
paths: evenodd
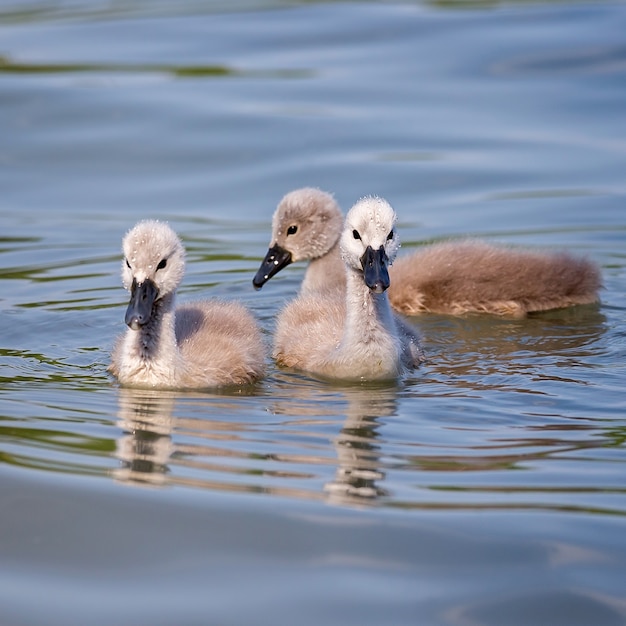
M 185 250 L 167 224 L 139 222 L 122 247 L 122 282 L 131 294 L 128 329 L 109 366 L 122 385 L 208 388 L 262 376 L 263 341 L 246 308 L 218 301 L 175 306 Z

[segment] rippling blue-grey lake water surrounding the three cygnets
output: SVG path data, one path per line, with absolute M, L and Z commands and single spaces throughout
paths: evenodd
M 0 623 L 624 624 L 625 111 L 624 2 L 0 2 Z M 300 186 L 404 253 L 588 256 L 602 302 L 412 318 L 393 386 L 120 389 L 124 233 L 269 343 Z

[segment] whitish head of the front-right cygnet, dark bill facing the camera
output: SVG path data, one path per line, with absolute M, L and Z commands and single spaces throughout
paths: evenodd
M 346 215 L 341 257 L 349 268 L 363 274 L 365 284 L 375 293 L 382 293 L 390 284 L 388 267 L 400 247 L 395 224 L 395 211 L 377 197 L 362 198 Z

